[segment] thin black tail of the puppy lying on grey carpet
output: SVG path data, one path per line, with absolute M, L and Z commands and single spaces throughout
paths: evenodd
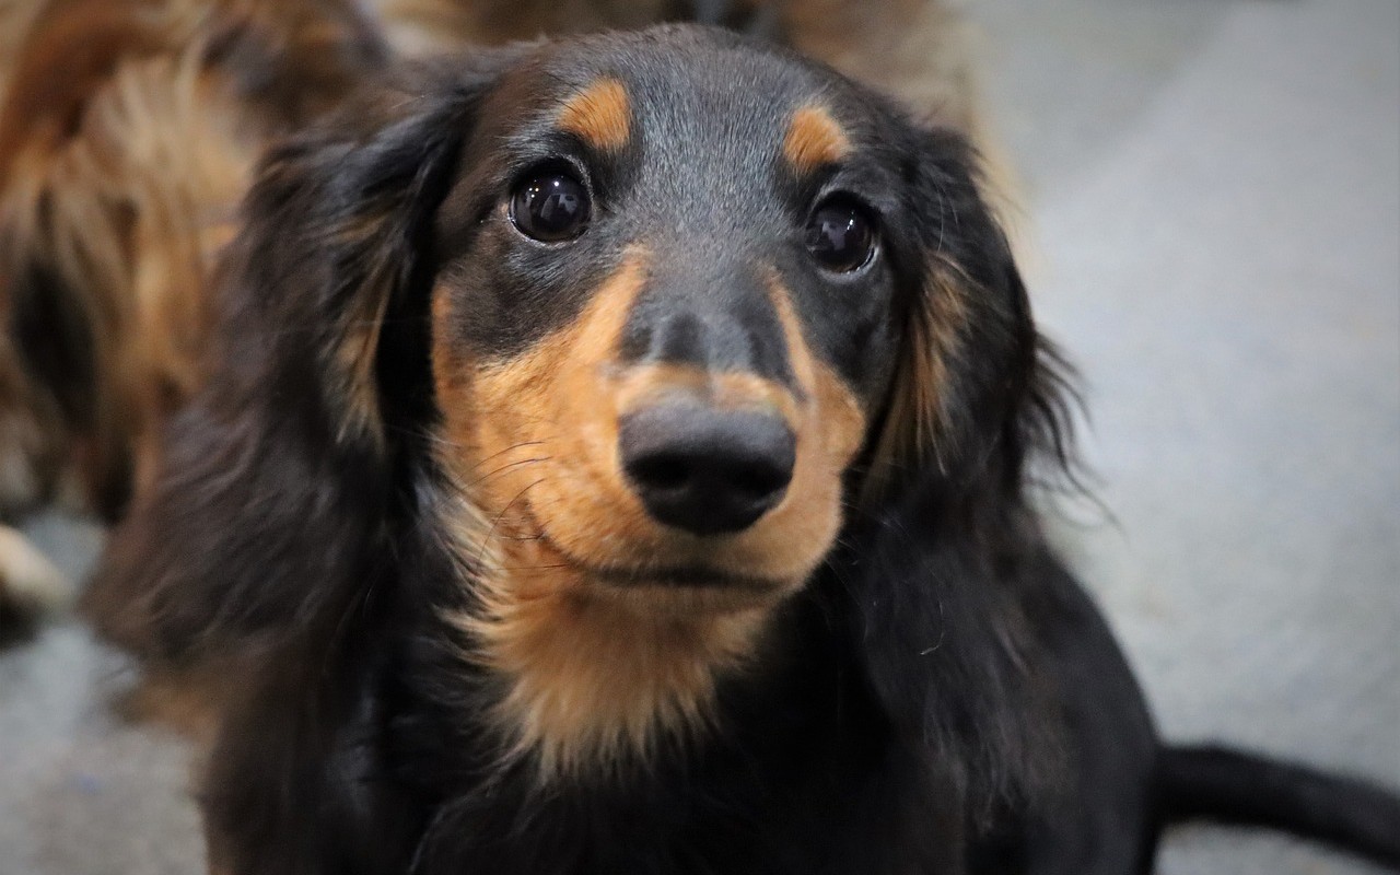
M 1229 748 L 1165 748 L 1156 785 L 1162 825 L 1214 820 L 1313 839 L 1400 871 L 1400 797 Z

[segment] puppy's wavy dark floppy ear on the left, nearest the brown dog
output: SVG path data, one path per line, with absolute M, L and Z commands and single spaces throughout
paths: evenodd
M 424 76 L 262 162 L 218 279 L 214 375 L 88 599 L 126 647 L 179 659 L 333 629 L 374 589 L 431 406 L 433 216 L 491 78 Z

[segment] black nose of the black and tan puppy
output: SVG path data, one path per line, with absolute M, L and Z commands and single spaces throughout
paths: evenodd
M 753 525 L 783 498 L 797 461 L 776 416 L 673 402 L 623 417 L 617 449 L 647 511 L 696 535 Z

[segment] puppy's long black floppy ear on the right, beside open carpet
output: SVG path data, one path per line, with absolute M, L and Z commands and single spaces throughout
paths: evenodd
M 917 227 L 897 242 L 920 255 L 899 266 L 903 346 L 843 573 L 875 697 L 931 773 L 987 815 L 1040 791 L 1057 763 L 1023 606 L 1023 581 L 1050 560 L 1022 490 L 1036 452 L 1065 455 L 1067 389 L 970 150 L 951 133 L 911 139 Z

